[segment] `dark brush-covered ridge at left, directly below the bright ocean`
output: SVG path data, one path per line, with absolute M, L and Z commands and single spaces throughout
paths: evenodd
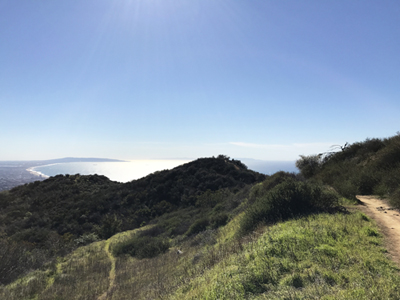
M 227 212 L 241 202 L 234 195 L 265 178 L 240 161 L 220 155 L 125 184 L 98 175 L 59 175 L 1 192 L 0 272 L 4 278 L 0 284 L 77 246 L 140 227 L 161 215 L 169 216 L 159 220 L 165 236 L 184 234 L 189 228 L 188 234 L 200 230 L 191 227 L 200 222 L 200 214 L 209 213 L 205 222 L 215 228 L 226 223 Z M 232 199 L 220 203 L 226 195 Z M 163 249 L 163 241 L 157 245 Z M 12 262 L 18 260 L 16 267 Z

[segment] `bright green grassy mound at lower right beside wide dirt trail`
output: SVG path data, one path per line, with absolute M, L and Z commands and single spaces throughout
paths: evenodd
M 399 299 L 398 268 L 362 214 L 321 214 L 266 228 L 172 299 Z

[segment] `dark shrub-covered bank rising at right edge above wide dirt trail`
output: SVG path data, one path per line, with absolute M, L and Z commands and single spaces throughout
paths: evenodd
M 344 197 L 374 194 L 400 208 L 400 133 L 346 144 L 335 153 L 301 156 L 296 166 L 305 178 L 332 186 Z

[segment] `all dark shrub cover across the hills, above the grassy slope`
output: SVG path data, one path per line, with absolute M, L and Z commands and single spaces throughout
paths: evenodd
M 60 175 L 1 192 L 0 284 L 144 225 L 151 226 L 113 244 L 113 255 L 152 258 L 179 242 L 212 244 L 214 232 L 242 212 L 241 236 L 260 225 L 337 211 L 340 197 L 377 194 L 400 207 L 399 134 L 301 156 L 296 165 L 300 174 L 266 176 L 220 155 L 125 184 Z

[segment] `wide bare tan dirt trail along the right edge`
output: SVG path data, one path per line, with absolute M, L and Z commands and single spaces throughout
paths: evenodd
M 362 202 L 357 209 L 373 218 L 386 237 L 385 247 L 400 266 L 400 213 L 384 200 L 374 196 L 357 196 Z

